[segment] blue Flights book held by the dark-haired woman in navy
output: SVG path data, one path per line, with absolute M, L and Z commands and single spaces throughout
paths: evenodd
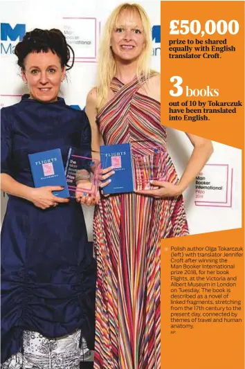
M 28 157 L 35 187 L 64 186 L 64 190 L 53 191 L 53 195 L 69 197 L 60 149 L 36 152 Z

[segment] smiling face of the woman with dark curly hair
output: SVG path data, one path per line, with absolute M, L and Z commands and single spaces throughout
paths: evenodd
M 21 73 L 28 85 L 30 98 L 43 102 L 56 101 L 65 74 L 57 54 L 52 51 L 29 53 L 24 66 Z

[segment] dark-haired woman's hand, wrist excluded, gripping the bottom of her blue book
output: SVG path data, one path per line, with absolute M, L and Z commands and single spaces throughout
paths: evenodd
M 63 199 L 62 197 L 57 197 L 53 195 L 53 191 L 62 191 L 64 187 L 62 186 L 46 186 L 39 188 L 32 188 L 30 190 L 30 197 L 28 200 L 33 202 L 37 208 L 47 209 L 51 206 L 57 206 L 58 204 L 64 204 L 69 202 L 69 199 Z

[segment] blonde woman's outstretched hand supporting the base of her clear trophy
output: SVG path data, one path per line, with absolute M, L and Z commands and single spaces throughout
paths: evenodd
M 151 181 L 151 184 L 158 188 L 153 190 L 136 190 L 135 192 L 140 195 L 156 197 L 156 199 L 160 197 L 177 197 L 183 192 L 179 184 L 173 184 L 166 181 Z

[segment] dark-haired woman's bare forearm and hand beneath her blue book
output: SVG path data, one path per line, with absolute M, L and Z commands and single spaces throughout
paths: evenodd
M 1 174 L 1 190 L 7 192 L 9 195 L 31 201 L 35 206 L 42 209 L 69 201 L 69 199 L 63 199 L 53 195 L 52 191 L 63 190 L 61 186 L 33 188 L 15 181 L 15 179 L 6 173 Z

